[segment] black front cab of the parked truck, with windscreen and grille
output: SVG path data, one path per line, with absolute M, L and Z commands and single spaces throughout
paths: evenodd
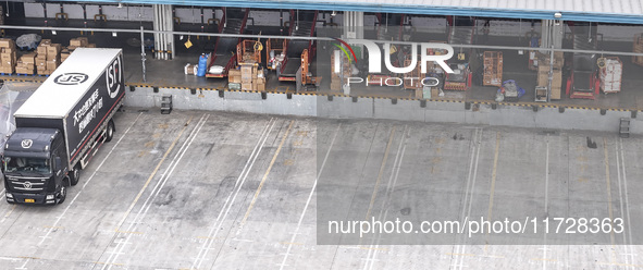
M 10 204 L 55 205 L 71 184 L 63 135 L 57 128 L 23 127 L 9 137 L 2 173 Z

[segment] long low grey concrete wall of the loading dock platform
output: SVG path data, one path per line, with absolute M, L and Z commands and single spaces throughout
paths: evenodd
M 268 94 L 267 99 L 259 93 L 225 91 L 224 97 L 217 90 L 197 90 L 191 94 L 187 89 L 138 87 L 128 91 L 125 105 L 159 109 L 161 97 L 171 95 L 174 109 L 238 111 L 279 115 L 304 115 L 332 119 L 387 119 L 401 121 L 481 124 L 494 126 L 519 126 L 552 130 L 582 130 L 618 132 L 620 118 L 630 118 L 628 111 L 607 111 L 605 115 L 598 110 L 566 109 L 560 113 L 557 108 L 539 108 L 534 112 L 531 107 L 498 105 L 494 110 L 491 105 L 471 105 L 465 109 L 461 102 L 426 101 L 422 108 L 418 100 L 333 97 L 293 95 L 287 99 L 284 94 Z M 632 119 L 632 134 L 643 134 L 643 119 Z

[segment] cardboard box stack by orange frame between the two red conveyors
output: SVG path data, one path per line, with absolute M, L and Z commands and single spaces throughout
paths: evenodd
M 257 63 L 239 63 L 240 69 L 227 73 L 227 88 L 240 90 L 265 90 L 265 76 Z

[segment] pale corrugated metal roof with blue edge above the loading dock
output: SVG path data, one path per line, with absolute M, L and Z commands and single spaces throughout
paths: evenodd
M 83 2 L 104 3 L 106 1 L 85 0 Z M 554 13 L 561 12 L 565 21 L 643 24 L 643 0 L 122 0 L 111 2 L 539 20 L 552 20 Z

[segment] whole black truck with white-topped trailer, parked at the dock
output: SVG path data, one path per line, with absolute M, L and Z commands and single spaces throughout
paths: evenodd
M 61 204 L 123 103 L 121 49 L 77 48 L 13 114 L 2 173 L 9 204 Z

